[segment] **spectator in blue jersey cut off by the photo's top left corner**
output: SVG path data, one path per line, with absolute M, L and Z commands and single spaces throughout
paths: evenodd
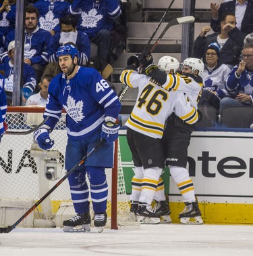
M 3 0 L 0 6 L 0 32 L 6 36 L 15 28 L 16 0 Z

